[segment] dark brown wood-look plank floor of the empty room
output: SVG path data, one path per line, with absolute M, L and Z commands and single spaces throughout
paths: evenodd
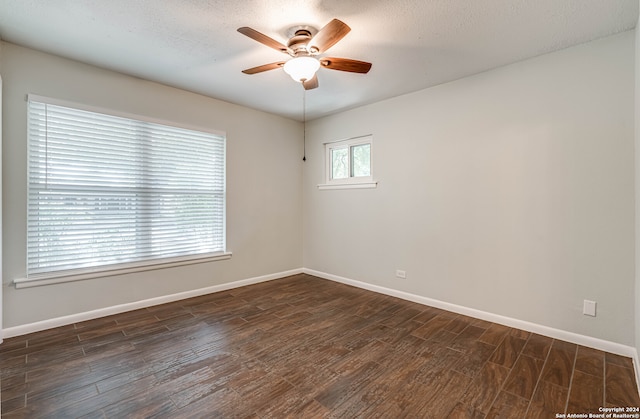
M 0 345 L 13 417 L 535 417 L 640 406 L 629 358 L 296 275 Z

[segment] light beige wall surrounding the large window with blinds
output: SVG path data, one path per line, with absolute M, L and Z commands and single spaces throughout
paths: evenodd
M 2 44 L 4 328 L 302 267 L 302 125 Z M 212 74 L 212 77 L 215 75 Z M 25 275 L 28 93 L 227 133 L 231 260 L 16 290 Z

